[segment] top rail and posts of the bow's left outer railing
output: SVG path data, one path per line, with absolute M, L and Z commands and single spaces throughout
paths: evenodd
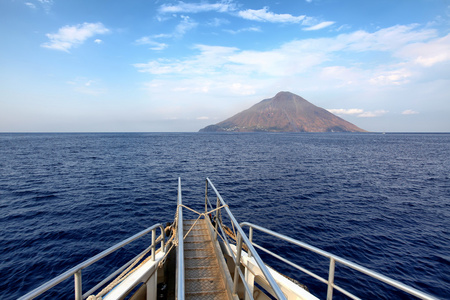
M 41 295 L 42 293 L 48 291 L 52 287 L 60 284 L 70 276 L 74 275 L 75 279 L 75 299 L 83 299 L 83 293 L 82 293 L 82 281 L 81 281 L 81 270 L 89 267 L 93 263 L 99 261 L 100 259 L 104 258 L 105 256 L 108 256 L 109 254 L 119 250 L 123 246 L 141 238 L 142 236 L 146 235 L 149 232 L 152 232 L 152 235 L 155 234 L 156 228 L 160 228 L 162 240 L 161 240 L 161 247 L 164 249 L 164 242 L 166 239 L 165 233 L 164 233 L 164 227 L 162 224 L 155 224 L 147 229 L 142 230 L 141 232 L 129 237 L 126 240 L 123 240 L 120 243 L 115 244 L 114 246 L 106 249 L 105 251 L 95 255 L 94 257 L 91 257 L 90 259 L 76 265 L 75 267 L 71 268 L 70 270 L 64 272 L 63 274 L 53 278 L 52 280 L 47 281 L 43 285 L 37 287 L 36 289 L 32 290 L 31 292 L 27 293 L 26 295 L 19 298 L 19 300 L 28 300 L 28 299 L 34 299 L 37 296 Z M 152 238 L 152 240 L 154 240 Z M 152 245 L 154 247 L 155 245 Z

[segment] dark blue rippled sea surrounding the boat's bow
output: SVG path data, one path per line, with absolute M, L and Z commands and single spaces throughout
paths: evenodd
M 201 206 L 209 177 L 238 221 L 450 299 L 450 134 L 0 134 L 0 157 L 2 299 L 173 220 L 178 177 L 188 205 Z M 327 276 L 326 260 L 255 238 Z M 86 269 L 85 291 L 110 264 Z M 325 297 L 324 284 L 271 265 Z M 363 299 L 410 299 L 341 266 L 336 282 Z M 72 279 L 46 298 L 71 290 Z

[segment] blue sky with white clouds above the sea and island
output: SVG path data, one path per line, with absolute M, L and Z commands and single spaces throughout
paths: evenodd
M 0 132 L 193 132 L 279 91 L 450 132 L 449 0 L 0 0 Z

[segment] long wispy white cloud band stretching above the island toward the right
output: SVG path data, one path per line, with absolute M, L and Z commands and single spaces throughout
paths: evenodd
M 239 50 L 234 47 L 197 46 L 200 53 L 186 60 L 154 60 L 149 63 L 140 63 L 135 66 L 143 72 L 153 74 L 169 74 L 176 72 L 207 73 L 217 68 L 240 74 L 264 74 L 268 76 L 291 76 L 311 72 L 313 67 L 330 61 L 339 62 L 339 55 L 352 56 L 362 52 L 374 53 L 374 51 L 390 53 L 394 58 L 401 56 L 401 51 L 412 42 L 424 41 L 434 43 L 432 37 L 434 31 L 413 31 L 414 26 L 393 26 L 369 33 L 356 31 L 349 34 L 340 34 L 333 38 L 294 40 L 285 43 L 279 48 L 268 51 Z M 448 41 L 450 46 L 450 39 Z M 439 48 L 443 51 L 440 55 L 447 55 L 446 47 Z M 224 53 L 226 52 L 226 53 Z M 439 53 L 436 53 L 438 55 Z M 215 59 L 210 59 L 210 56 Z M 415 61 L 416 57 L 404 56 L 409 61 Z M 346 58 L 348 60 L 348 58 Z M 449 57 L 450 60 L 450 57 Z M 193 62 L 196 62 L 195 64 Z M 203 68 L 202 68 L 203 67 Z M 346 79 L 347 82 L 356 84 L 361 82 L 361 72 L 365 72 L 364 66 L 349 69 L 345 66 L 324 66 L 319 74 L 331 80 L 337 78 Z M 375 71 L 375 72 L 374 72 Z M 380 66 L 377 70 L 363 74 L 364 80 L 371 85 L 399 85 L 408 83 L 413 76 L 402 61 L 398 67 Z M 354 80 L 353 80 L 354 79 Z

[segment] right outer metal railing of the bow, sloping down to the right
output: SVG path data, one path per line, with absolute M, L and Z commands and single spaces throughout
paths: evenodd
M 308 270 L 306 270 L 306 269 L 304 269 L 304 268 L 302 268 L 300 266 L 297 266 L 297 265 L 293 264 L 292 262 L 290 262 L 289 260 L 284 259 L 284 258 L 282 258 L 282 257 L 280 257 L 280 256 L 278 256 L 278 255 L 276 255 L 274 253 L 272 253 L 271 251 L 265 249 L 264 247 L 261 247 L 261 246 L 259 246 L 257 244 L 253 244 L 258 249 L 261 249 L 261 250 L 265 251 L 266 253 L 271 254 L 274 257 L 280 259 L 281 261 L 286 262 L 289 265 L 291 265 L 291 266 L 293 266 L 293 267 L 295 267 L 295 268 L 297 268 L 297 269 L 307 273 L 308 275 L 318 279 L 319 281 L 328 284 L 328 294 L 327 294 L 327 299 L 328 300 L 331 300 L 332 297 L 333 297 L 333 289 L 337 289 L 338 291 L 344 293 L 345 295 L 347 295 L 347 296 L 349 296 L 349 297 L 351 297 L 353 299 L 359 299 L 355 295 L 351 294 L 350 292 L 348 292 L 348 291 L 344 290 L 343 288 L 338 287 L 337 285 L 334 284 L 333 281 L 334 281 L 334 269 L 335 269 L 334 265 L 335 265 L 335 263 L 340 263 L 342 265 L 345 265 L 345 266 L 347 266 L 347 267 L 349 267 L 351 269 L 359 271 L 359 272 L 361 272 L 363 274 L 366 274 L 366 275 L 368 275 L 368 276 L 370 276 L 372 278 L 378 279 L 379 281 L 387 283 L 388 285 L 390 285 L 392 287 L 398 288 L 398 289 L 400 289 L 400 290 L 402 290 L 402 291 L 404 291 L 404 292 L 406 292 L 406 293 L 408 293 L 408 294 L 410 294 L 412 296 L 416 296 L 416 297 L 418 297 L 420 299 L 426 299 L 426 300 L 437 300 L 438 299 L 438 298 L 436 298 L 434 296 L 428 295 L 428 294 L 426 294 L 426 293 L 424 293 L 422 291 L 419 291 L 419 290 L 417 290 L 417 289 L 415 289 L 413 287 L 407 286 L 407 285 L 405 285 L 405 284 L 403 284 L 403 283 L 401 283 L 399 281 L 396 281 L 396 280 L 394 280 L 392 278 L 384 276 L 384 275 L 382 275 L 380 273 L 377 273 L 375 271 L 369 270 L 369 269 L 367 269 L 367 268 L 365 268 L 363 266 L 360 266 L 360 265 L 358 265 L 356 263 L 353 263 L 353 262 L 351 262 L 349 260 L 346 260 L 344 258 L 341 258 L 341 257 L 339 257 L 337 255 L 331 254 L 331 253 L 329 253 L 327 251 L 321 250 L 321 249 L 316 248 L 314 246 L 311 246 L 309 244 L 300 242 L 298 240 L 295 240 L 295 239 L 290 238 L 288 236 L 285 236 L 283 234 L 274 232 L 274 231 L 272 231 L 270 229 L 267 229 L 267 228 L 264 228 L 264 227 L 261 227 L 261 226 L 258 226 L 258 225 L 252 224 L 252 223 L 248 223 L 248 222 L 243 222 L 243 223 L 240 224 L 240 227 L 244 227 L 244 226 L 248 226 L 250 228 L 250 230 L 257 229 L 259 231 L 262 231 L 264 233 L 267 233 L 267 234 L 272 235 L 274 237 L 277 237 L 279 239 L 285 240 L 285 241 L 287 241 L 289 243 L 292 243 L 294 245 L 300 246 L 300 247 L 302 247 L 304 249 L 307 249 L 309 251 L 312 251 L 314 253 L 317 253 L 317 254 L 319 254 L 321 256 L 324 256 L 324 257 L 327 257 L 328 259 L 330 259 L 330 268 L 329 268 L 329 274 L 328 274 L 329 277 L 328 277 L 328 280 L 326 280 L 326 279 L 324 279 L 324 278 L 322 278 L 322 277 L 312 273 L 311 271 L 308 271 Z

